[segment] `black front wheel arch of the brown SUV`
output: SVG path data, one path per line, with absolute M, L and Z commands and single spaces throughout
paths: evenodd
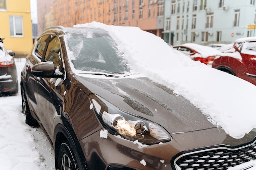
M 76 137 L 76 134 L 72 126 L 67 122 L 67 120 L 61 116 L 62 123 L 58 123 L 54 129 L 54 154 L 55 154 L 55 168 L 58 169 L 58 150 L 61 146 L 61 143 L 67 140 L 72 147 L 74 155 L 78 160 L 79 167 L 82 170 L 86 170 L 88 165 L 83 154 L 83 150 L 79 144 L 79 140 Z

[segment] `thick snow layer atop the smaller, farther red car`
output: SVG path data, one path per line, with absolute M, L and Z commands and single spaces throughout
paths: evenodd
M 197 51 L 198 53 L 200 53 L 202 55 L 203 58 L 213 56 L 213 55 L 220 53 L 220 51 L 216 50 L 215 48 L 212 48 L 209 46 L 202 46 L 200 44 L 195 44 L 195 43 L 185 43 L 180 46 L 191 48 L 192 50 Z

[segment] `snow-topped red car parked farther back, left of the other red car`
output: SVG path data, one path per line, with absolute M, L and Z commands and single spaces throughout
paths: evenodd
M 211 64 L 216 54 L 220 53 L 219 50 L 209 46 L 202 46 L 195 43 L 186 43 L 178 46 L 173 46 L 186 56 L 189 56 L 195 61 L 200 61 L 204 64 Z

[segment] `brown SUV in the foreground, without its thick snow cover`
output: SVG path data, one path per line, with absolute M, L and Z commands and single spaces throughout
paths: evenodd
M 227 135 L 184 97 L 132 71 L 119 45 L 101 28 L 56 26 L 27 56 L 22 111 L 45 130 L 56 169 L 225 170 L 256 158 L 256 132 Z

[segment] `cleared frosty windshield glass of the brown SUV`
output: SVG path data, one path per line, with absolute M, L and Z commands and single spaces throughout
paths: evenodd
M 71 59 L 76 70 L 108 74 L 129 72 L 122 53 L 107 33 L 72 34 L 68 46 L 73 52 Z

